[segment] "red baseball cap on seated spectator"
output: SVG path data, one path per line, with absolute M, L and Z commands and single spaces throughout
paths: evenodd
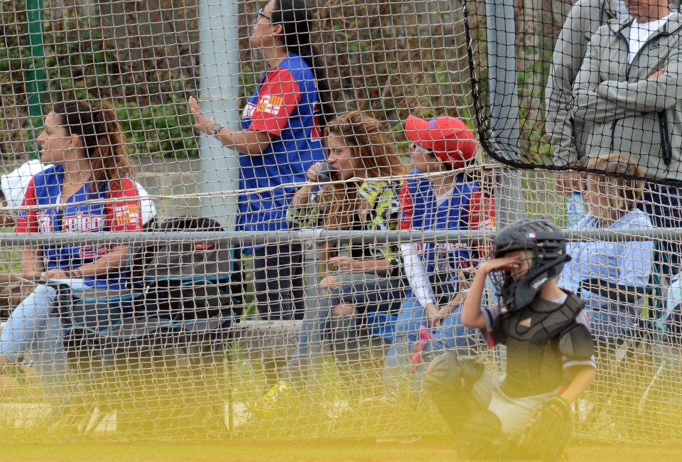
M 410 141 L 431 149 L 438 158 L 453 168 L 462 168 L 476 156 L 474 134 L 462 119 L 440 116 L 424 120 L 408 116 L 405 134 Z

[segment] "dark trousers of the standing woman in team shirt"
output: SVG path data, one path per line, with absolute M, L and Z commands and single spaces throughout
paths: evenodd
M 268 245 L 254 252 L 254 291 L 261 318 L 303 319 L 301 245 Z

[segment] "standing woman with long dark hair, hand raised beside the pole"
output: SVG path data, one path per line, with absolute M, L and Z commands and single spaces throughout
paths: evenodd
M 249 42 L 269 68 L 242 113 L 242 129 L 232 131 L 202 114 L 189 99 L 195 126 L 239 151 L 237 229 L 286 229 L 286 210 L 315 162 L 325 158 L 320 134 L 334 109 L 321 54 L 310 38 L 313 15 L 303 0 L 271 0 L 259 9 Z M 259 313 L 291 318 L 302 304 L 300 245 L 242 249 L 253 253 L 254 290 Z

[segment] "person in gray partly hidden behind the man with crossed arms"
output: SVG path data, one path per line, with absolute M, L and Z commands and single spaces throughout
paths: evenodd
M 583 63 L 590 37 L 611 19 L 628 17 L 623 0 L 579 0 L 566 17 L 554 46 L 545 89 L 545 129 L 551 137 L 556 166 L 578 166 L 585 155 L 591 124 L 573 119 L 571 102 L 575 75 Z

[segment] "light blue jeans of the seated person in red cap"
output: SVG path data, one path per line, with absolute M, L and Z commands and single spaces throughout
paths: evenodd
M 384 360 L 384 383 L 389 392 L 400 392 L 409 387 L 413 394 L 421 393 L 423 374 L 431 359 L 445 350 L 458 350 L 467 354 L 480 341 L 475 329 L 462 325 L 462 307 L 450 314 L 438 328 L 431 340 L 424 345 L 421 362 L 412 372 L 412 356 L 419 340 L 421 326 L 428 326 L 426 311 L 416 299 L 405 300 L 398 314 L 394 342 Z

